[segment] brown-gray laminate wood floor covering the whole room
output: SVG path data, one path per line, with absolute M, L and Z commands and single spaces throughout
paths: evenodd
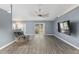
M 79 50 L 54 36 L 31 36 L 28 42 L 16 42 L 2 49 L 0 54 L 78 54 Z

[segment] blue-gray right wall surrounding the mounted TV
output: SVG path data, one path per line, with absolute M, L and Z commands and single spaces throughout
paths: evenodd
M 57 30 L 57 23 L 65 20 L 70 20 L 71 22 L 71 35 L 66 35 L 59 33 Z M 63 16 L 56 18 L 53 22 L 54 35 L 72 43 L 73 45 L 79 47 L 79 7 L 73 9 L 72 11 L 64 14 Z

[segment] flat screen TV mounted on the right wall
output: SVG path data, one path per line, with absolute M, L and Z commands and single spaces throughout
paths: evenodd
M 58 32 L 70 35 L 71 34 L 70 27 L 71 27 L 70 21 L 58 22 Z

